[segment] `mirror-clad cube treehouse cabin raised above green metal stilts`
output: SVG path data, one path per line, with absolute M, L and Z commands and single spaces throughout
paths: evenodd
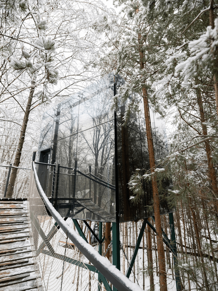
M 149 182 L 143 185 L 140 201 L 130 199 L 130 177 L 136 169 L 143 174 L 150 166 L 141 97 L 134 95 L 137 108 L 125 126 L 126 105 L 111 111 L 113 96 L 123 83 L 119 75 L 109 74 L 43 115 L 38 177 L 62 217 L 126 222 L 153 215 Z M 151 107 L 150 122 L 155 158 L 163 159 L 167 155 L 165 124 Z M 161 214 L 171 212 L 164 195 Z

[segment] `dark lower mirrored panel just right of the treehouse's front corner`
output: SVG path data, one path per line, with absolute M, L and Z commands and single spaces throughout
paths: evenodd
M 142 169 L 144 163 L 149 163 L 149 161 L 142 159 L 142 157 L 147 158 L 147 140 L 141 140 L 141 135 L 137 131 L 121 125 L 121 122 L 117 122 L 119 208 L 120 221 L 123 222 L 140 219 L 147 215 L 145 192 L 141 201 L 134 205 L 130 200 L 132 193 L 127 184 L 133 172 L 136 169 Z M 150 188 L 147 192 L 150 193 Z

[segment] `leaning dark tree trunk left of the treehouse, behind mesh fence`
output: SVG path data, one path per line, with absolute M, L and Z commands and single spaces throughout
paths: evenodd
M 14 159 L 14 163 L 13 166 L 18 167 L 20 164 L 20 158 L 21 158 L 21 152 L 22 152 L 22 148 L 23 148 L 23 144 L 24 144 L 24 140 L 25 140 L 25 133 L 26 133 L 26 128 L 27 128 L 27 123 L 29 120 L 29 113 L 30 113 L 30 107 L 32 104 L 32 98 L 33 98 L 33 94 L 35 91 L 35 81 L 33 80 L 31 82 L 31 84 L 33 85 L 33 87 L 31 87 L 30 89 L 30 93 L 29 93 L 29 98 L 28 98 L 28 102 L 27 102 L 27 106 L 26 106 L 26 110 L 24 113 L 24 118 L 23 118 L 23 124 L 21 127 L 21 132 L 20 132 L 20 138 L 19 138 L 19 142 L 18 142 L 18 149 L 15 155 L 15 159 Z M 17 168 L 12 168 L 11 171 L 11 176 L 9 179 L 9 183 L 8 183 L 8 189 L 7 189 L 7 193 L 6 193 L 6 197 L 7 198 L 11 198 L 13 191 L 14 191 L 14 185 L 15 185 L 15 180 L 17 177 Z

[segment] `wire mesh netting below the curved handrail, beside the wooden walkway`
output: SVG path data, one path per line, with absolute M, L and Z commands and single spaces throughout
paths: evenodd
M 33 172 L 30 177 L 28 204 L 33 254 L 44 290 L 101 290 L 102 285 L 97 279 L 95 268 L 48 215 Z

